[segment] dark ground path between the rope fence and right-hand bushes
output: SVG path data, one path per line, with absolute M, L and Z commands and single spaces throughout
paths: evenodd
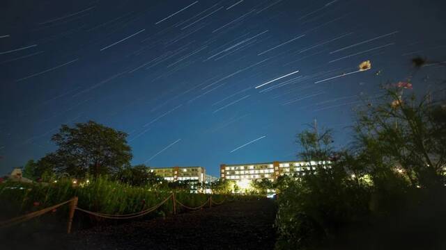
M 273 249 L 275 203 L 237 201 L 166 219 L 77 231 L 74 249 Z

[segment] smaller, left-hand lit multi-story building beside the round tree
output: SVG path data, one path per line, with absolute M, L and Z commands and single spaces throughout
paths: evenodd
M 206 181 L 206 169 L 204 167 L 157 167 L 151 168 L 157 176 L 166 181 Z

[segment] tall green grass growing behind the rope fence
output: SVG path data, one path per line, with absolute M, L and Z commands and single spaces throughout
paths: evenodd
M 98 213 L 122 215 L 136 213 L 151 208 L 171 194 L 171 190 L 153 191 L 151 187 L 134 187 L 128 184 L 110 181 L 107 178 L 97 178 L 89 183 L 79 183 L 74 186 L 68 179 L 57 183 L 0 184 L 0 219 L 23 215 L 34 210 L 40 210 L 57 203 L 78 197 L 78 207 Z M 224 194 L 213 194 L 213 201 L 226 199 Z M 209 194 L 191 194 L 176 192 L 176 199 L 186 206 L 196 207 L 206 202 Z M 234 199 L 233 197 L 230 198 Z M 236 199 L 251 199 L 238 197 Z M 66 209 L 61 208 L 61 209 Z M 178 210 L 183 210 L 177 206 Z M 171 201 L 158 208 L 163 214 L 172 213 Z M 3 218 L 5 217 L 5 218 Z

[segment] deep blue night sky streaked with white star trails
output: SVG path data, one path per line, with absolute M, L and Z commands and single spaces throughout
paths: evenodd
M 221 163 L 296 160 L 295 135 L 314 119 L 346 147 L 362 99 L 406 81 L 410 58 L 445 60 L 445 5 L 2 1 L 0 174 L 90 119 L 129 134 L 134 165 L 215 176 Z M 370 70 L 341 76 L 364 60 Z M 438 94 L 442 77 L 424 67 L 409 92 Z

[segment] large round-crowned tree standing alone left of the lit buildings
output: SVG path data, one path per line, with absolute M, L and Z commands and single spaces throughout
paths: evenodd
M 57 172 L 77 178 L 114 174 L 132 159 L 126 137 L 124 132 L 93 121 L 62 125 L 52 137 L 59 149 L 45 157 L 51 158 Z

